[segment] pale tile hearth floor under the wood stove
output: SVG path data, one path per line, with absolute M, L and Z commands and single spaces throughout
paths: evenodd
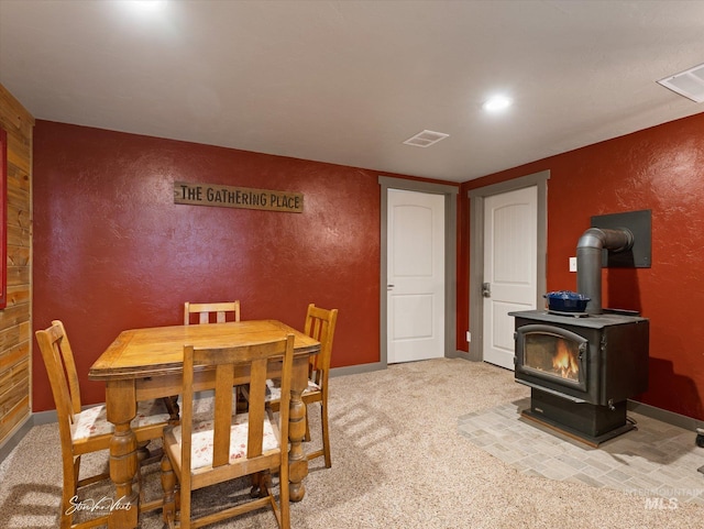
M 529 406 L 526 398 L 468 414 L 458 419 L 459 431 L 526 474 L 704 505 L 704 474 L 697 472 L 704 449 L 695 432 L 629 411 L 636 430 L 592 448 L 522 418 Z

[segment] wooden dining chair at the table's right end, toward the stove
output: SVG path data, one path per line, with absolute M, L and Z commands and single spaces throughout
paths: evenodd
M 338 309 L 321 309 L 315 304 L 308 305 L 304 332 L 320 342 L 320 353 L 311 355 L 308 364 L 308 387 L 301 398 L 306 406 L 320 403 L 320 422 L 322 425 L 322 449 L 307 454 L 308 461 L 324 456 L 326 467 L 332 466 L 330 455 L 330 428 L 328 419 L 328 376 L 332 357 L 332 340 L 338 321 Z M 270 379 L 270 400 L 272 409 L 277 411 L 282 390 L 278 381 Z M 307 414 L 306 414 L 307 416 Z M 306 420 L 306 441 L 310 441 L 309 422 Z

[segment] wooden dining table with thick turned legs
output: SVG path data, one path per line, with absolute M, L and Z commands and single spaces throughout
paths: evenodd
M 304 478 L 308 461 L 304 454 L 306 406 L 301 393 L 308 384 L 308 360 L 320 351 L 320 343 L 276 320 L 248 320 L 228 323 L 153 327 L 122 331 L 88 372 L 91 381 L 106 383 L 108 420 L 114 425 L 110 441 L 110 478 L 116 486 L 116 505 L 108 527 L 132 529 L 139 521 L 139 494 L 133 489 L 138 469 L 138 442 L 130 427 L 136 403 L 172 397 L 182 393 L 184 345 L 196 348 L 235 346 L 286 338 L 293 333 L 294 378 L 292 381 L 288 453 L 290 500 L 305 495 Z M 270 377 L 280 374 L 280 362 L 270 364 Z M 211 375 L 198 374 L 196 386 Z M 239 384 L 249 382 L 243 372 Z M 197 389 L 197 387 L 196 387 Z M 136 507 L 136 508 L 134 508 Z

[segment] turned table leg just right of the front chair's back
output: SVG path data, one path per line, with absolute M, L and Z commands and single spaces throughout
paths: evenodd
M 292 502 L 300 502 L 306 495 L 304 478 L 308 475 L 308 459 L 304 453 L 302 440 L 306 436 L 306 405 L 301 399 L 304 389 L 308 386 L 308 357 L 294 360 L 294 376 L 292 381 L 290 407 L 288 418 L 288 478 L 290 482 L 288 497 Z

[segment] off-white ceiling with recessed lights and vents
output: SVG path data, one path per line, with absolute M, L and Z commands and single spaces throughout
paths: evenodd
M 36 119 L 450 181 L 704 111 L 656 82 L 704 63 L 704 1 L 134 4 L 0 0 L 0 82 Z

